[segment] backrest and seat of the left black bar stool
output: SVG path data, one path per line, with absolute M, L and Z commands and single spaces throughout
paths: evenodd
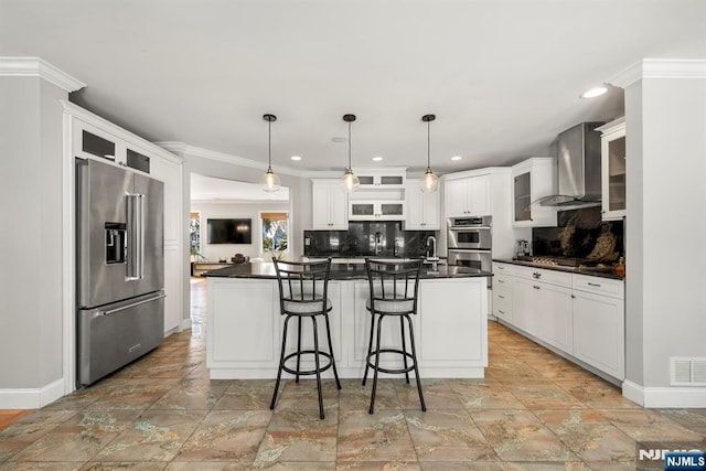
M 280 312 L 323 311 L 327 307 L 331 259 L 282 261 L 272 257 L 279 285 Z M 292 308 L 296 306 L 296 308 Z M 287 304 L 288 309 L 285 309 Z

